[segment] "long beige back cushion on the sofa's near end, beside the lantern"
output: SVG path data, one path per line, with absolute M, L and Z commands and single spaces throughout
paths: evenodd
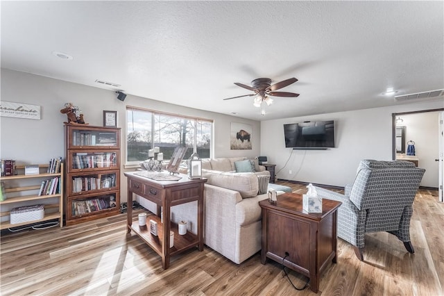
M 207 184 L 236 190 L 242 198 L 255 197 L 259 191 L 259 181 L 253 173 L 217 172 L 203 170 Z

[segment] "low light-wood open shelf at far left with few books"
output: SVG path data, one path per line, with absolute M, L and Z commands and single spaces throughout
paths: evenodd
M 21 227 L 28 224 L 35 224 L 49 220 L 59 220 L 60 227 L 63 227 L 63 163 L 60 163 L 60 172 L 47 173 L 49 164 L 38 165 L 39 174 L 25 174 L 25 165 L 16 165 L 17 174 L 12 176 L 1 176 L 0 181 L 4 184 L 6 199 L 0 202 L 0 217 L 8 217 L 8 220 L 0 222 L 0 229 Z M 59 178 L 57 188 L 51 194 L 39 195 L 42 182 Z M 27 181 L 26 181 L 27 180 Z M 21 184 L 26 181 L 26 186 Z M 56 204 L 48 204 L 48 199 L 57 199 Z M 44 217 L 40 220 L 33 220 L 22 223 L 10 223 L 10 211 L 19 206 L 29 206 L 33 204 L 44 204 Z M 2 218 L 3 220 L 3 218 Z

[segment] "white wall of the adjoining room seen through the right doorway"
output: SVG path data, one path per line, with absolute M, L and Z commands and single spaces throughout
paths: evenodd
M 401 125 L 405 126 L 405 147 L 407 142 L 415 142 L 418 166 L 425 168 L 421 186 L 438 187 L 438 112 L 400 115 Z

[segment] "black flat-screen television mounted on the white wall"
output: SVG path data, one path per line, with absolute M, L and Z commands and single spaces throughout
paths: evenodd
M 284 124 L 284 137 L 286 148 L 334 148 L 334 120 Z

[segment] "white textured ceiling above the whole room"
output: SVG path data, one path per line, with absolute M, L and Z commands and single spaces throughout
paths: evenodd
M 1 1 L 1 67 L 270 120 L 444 88 L 443 19 L 443 1 Z M 259 77 L 300 97 L 223 101 Z

